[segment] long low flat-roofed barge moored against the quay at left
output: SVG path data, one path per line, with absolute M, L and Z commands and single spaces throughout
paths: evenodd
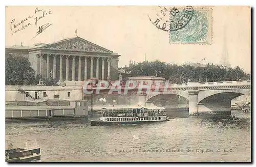
M 88 119 L 86 100 L 34 100 L 6 102 L 6 121 Z

